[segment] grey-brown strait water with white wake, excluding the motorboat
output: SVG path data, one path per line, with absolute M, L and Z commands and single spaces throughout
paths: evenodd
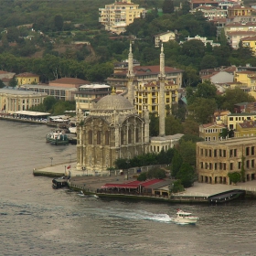
M 76 147 L 46 144 L 48 130 L 0 121 L 1 255 L 256 255 L 253 200 L 175 205 L 52 189 L 33 168 L 69 162 Z M 176 208 L 195 213 L 197 225 L 172 223 Z

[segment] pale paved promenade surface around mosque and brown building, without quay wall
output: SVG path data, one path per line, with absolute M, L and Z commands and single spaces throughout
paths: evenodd
M 70 169 L 67 169 L 68 166 Z M 66 167 L 65 167 L 66 166 Z M 101 188 L 106 183 L 123 183 L 127 181 L 127 176 L 117 174 L 109 175 L 109 172 L 103 173 L 103 176 L 95 176 L 95 173 L 88 173 L 87 171 L 77 171 L 75 170 L 76 162 L 64 163 L 61 165 L 50 165 L 37 170 L 33 170 L 34 175 L 42 176 L 64 176 L 65 169 L 66 175 L 71 174 L 71 183 L 76 184 L 78 187 L 87 187 L 91 191 L 96 191 L 97 188 Z M 129 181 L 133 181 L 133 175 L 129 176 Z M 195 182 L 193 187 L 188 187 L 186 191 L 176 194 L 176 196 L 186 196 L 186 197 L 209 197 L 221 192 L 225 192 L 232 189 L 243 189 L 246 191 L 252 191 L 256 193 L 256 180 L 248 181 L 245 183 L 238 183 L 234 185 L 224 185 L 224 184 L 207 184 Z

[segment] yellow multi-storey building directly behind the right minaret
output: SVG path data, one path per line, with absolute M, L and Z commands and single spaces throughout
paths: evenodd
M 144 107 L 149 112 L 159 115 L 159 81 L 139 81 L 134 86 L 135 108 L 138 114 L 142 114 Z M 165 115 L 172 109 L 172 105 L 178 101 L 178 85 L 173 81 L 165 80 Z M 167 107 L 168 106 L 168 107 Z

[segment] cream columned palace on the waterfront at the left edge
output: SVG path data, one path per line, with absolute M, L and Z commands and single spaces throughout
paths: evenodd
M 27 111 L 41 104 L 48 96 L 45 92 L 0 89 L 0 108 L 2 112 Z

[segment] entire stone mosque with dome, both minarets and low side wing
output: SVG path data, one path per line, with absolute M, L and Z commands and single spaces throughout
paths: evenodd
M 114 166 L 118 158 L 167 150 L 183 134 L 165 136 L 165 54 L 160 53 L 159 136 L 149 136 L 149 112 L 144 107 L 138 114 L 134 108 L 134 73 L 132 44 L 128 55 L 128 99 L 115 91 L 91 106 L 90 115 L 77 113 L 77 170 L 103 172 Z

